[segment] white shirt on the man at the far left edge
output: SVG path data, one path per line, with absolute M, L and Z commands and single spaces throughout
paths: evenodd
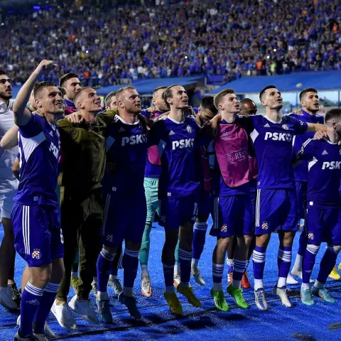
M 9 129 L 14 126 L 14 114 L 12 111 L 13 101 L 10 100 L 9 106 L 5 102 L 0 101 L 0 139 L 4 137 Z M 14 180 L 12 166 L 14 160 L 18 156 L 18 146 L 10 149 L 0 147 L 0 182 L 3 180 Z

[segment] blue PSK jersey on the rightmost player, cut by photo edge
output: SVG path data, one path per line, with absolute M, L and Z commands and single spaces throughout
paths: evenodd
M 328 139 L 309 139 L 296 158 L 308 161 L 307 208 L 340 207 L 340 146 Z

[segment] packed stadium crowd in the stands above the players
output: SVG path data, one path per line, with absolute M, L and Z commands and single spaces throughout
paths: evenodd
M 23 83 L 39 60 L 57 60 L 52 80 L 76 72 L 92 86 L 121 78 L 340 70 L 340 6 L 225 0 L 117 10 L 65 3 L 4 16 L 0 65 Z

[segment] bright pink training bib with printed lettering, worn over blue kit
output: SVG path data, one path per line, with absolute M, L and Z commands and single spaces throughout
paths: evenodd
M 251 180 L 247 132 L 239 124 L 218 124 L 215 153 L 220 173 L 229 187 L 238 187 Z

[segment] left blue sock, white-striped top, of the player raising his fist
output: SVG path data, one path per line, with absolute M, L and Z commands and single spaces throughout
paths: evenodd
M 43 292 L 43 289 L 36 288 L 30 282 L 28 282 L 23 289 L 23 294 L 21 295 L 21 321 L 19 328 L 21 337 L 27 337 L 33 334 L 32 322 L 36 315 L 36 311 L 38 310 Z

